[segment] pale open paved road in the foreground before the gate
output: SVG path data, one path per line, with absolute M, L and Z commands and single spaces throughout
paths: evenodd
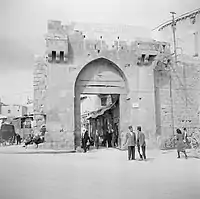
M 87 154 L 0 154 L 1 199 L 199 199 L 200 160 L 149 151 Z

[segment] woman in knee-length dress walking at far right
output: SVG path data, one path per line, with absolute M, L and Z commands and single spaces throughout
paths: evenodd
M 181 132 L 180 129 L 176 129 L 176 140 L 177 140 L 177 153 L 178 153 L 178 157 L 180 158 L 180 152 L 184 153 L 185 158 L 187 159 L 187 154 L 185 151 L 186 145 L 184 143 L 184 134 Z

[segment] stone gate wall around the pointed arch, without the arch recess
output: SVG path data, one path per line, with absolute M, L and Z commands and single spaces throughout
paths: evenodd
M 98 63 L 114 64 L 125 81 L 127 90 L 120 96 L 121 135 L 126 133 L 128 125 L 132 124 L 141 125 L 149 140 L 155 138 L 156 100 L 153 62 L 158 54 L 170 53 L 169 45 L 166 42 L 136 40 L 135 38 L 131 41 L 122 41 L 120 36 L 113 38 L 112 41 L 106 40 L 105 38 L 111 37 L 105 35 L 91 39 L 84 32 L 53 21 L 49 22 L 48 28 L 45 101 L 40 94 L 44 84 L 39 80 L 40 83 L 35 87 L 36 111 L 40 111 L 39 106 L 45 102 L 42 111 L 47 114 L 49 130 L 47 145 L 53 148 L 74 148 L 76 138 L 74 135 L 78 135 L 75 134 L 76 121 L 74 120 L 77 110 L 75 83 L 82 69 L 94 60 L 96 62 L 99 60 Z M 123 37 L 126 37 L 126 32 L 123 32 Z M 52 50 L 56 51 L 55 59 L 53 59 Z M 64 59 L 59 56 L 61 51 L 64 52 Z M 46 63 L 41 63 L 36 61 L 36 66 L 44 69 Z M 37 76 L 40 76 L 40 72 Z

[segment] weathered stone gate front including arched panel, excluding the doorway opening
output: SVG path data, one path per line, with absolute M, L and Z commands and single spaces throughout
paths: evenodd
M 168 43 L 134 38 L 122 41 L 120 35 L 112 42 L 104 38 L 103 34 L 100 38 L 88 38 L 85 33 L 70 25 L 62 26 L 58 21 L 48 23 L 46 145 L 70 149 L 80 145 L 81 93 L 120 94 L 120 143 L 130 124 L 141 125 L 149 139 L 161 134 L 156 133 L 156 126 L 160 124 L 155 113 L 160 107 L 155 98 L 157 62 L 154 60 L 157 55 L 169 56 Z M 40 64 L 36 62 L 36 65 Z M 40 94 L 35 95 L 35 102 L 37 99 L 41 99 Z

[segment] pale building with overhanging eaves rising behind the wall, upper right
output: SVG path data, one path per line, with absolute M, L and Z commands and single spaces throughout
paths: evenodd
M 167 41 L 174 51 L 174 40 L 172 34 L 172 20 L 157 27 L 156 39 Z M 200 8 L 182 14 L 175 18 L 176 47 L 177 54 L 190 57 L 200 56 Z

